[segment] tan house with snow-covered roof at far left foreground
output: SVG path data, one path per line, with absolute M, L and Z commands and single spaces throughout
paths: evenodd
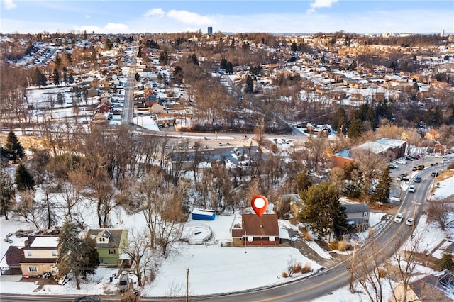
M 21 268 L 23 276 L 38 276 L 50 272 L 57 274 L 58 237 L 30 236 L 24 242 L 24 247 L 10 246 L 6 251 L 6 264 L 18 272 Z

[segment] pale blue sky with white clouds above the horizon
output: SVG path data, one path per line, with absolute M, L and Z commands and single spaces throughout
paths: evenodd
M 452 0 L 1 0 L 1 33 L 454 33 Z

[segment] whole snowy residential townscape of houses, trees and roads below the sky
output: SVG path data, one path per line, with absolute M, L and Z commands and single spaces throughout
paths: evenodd
M 454 298 L 452 33 L 0 48 L 0 299 Z

